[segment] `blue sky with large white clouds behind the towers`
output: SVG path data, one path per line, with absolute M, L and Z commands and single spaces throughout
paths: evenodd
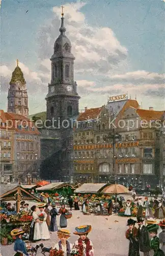
M 128 92 L 143 109 L 165 110 L 161 0 L 2 0 L 0 108 L 7 111 L 9 82 L 19 59 L 30 114 L 46 110 L 62 5 L 75 56 L 79 109 L 104 105 L 108 96 Z

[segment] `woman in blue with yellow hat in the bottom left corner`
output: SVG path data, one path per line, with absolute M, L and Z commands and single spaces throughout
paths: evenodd
M 15 228 L 11 231 L 11 236 L 16 237 L 16 240 L 14 243 L 14 251 L 16 253 L 14 254 L 14 256 L 29 255 L 26 249 L 26 245 L 21 239 L 23 233 L 24 231 L 21 228 Z

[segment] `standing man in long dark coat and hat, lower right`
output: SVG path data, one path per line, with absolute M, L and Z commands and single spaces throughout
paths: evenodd
M 144 256 L 149 256 L 150 248 L 150 238 L 147 227 L 143 225 L 142 217 L 137 217 L 137 224 L 139 225 L 137 236 L 139 240 L 140 251 L 144 253 Z

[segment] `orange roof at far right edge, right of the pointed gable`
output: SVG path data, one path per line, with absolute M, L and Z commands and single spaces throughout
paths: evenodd
M 142 120 L 150 121 L 161 119 L 164 111 L 137 109 L 136 113 L 140 116 Z

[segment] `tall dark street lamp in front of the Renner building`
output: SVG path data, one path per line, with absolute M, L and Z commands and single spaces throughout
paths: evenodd
M 115 132 L 115 129 L 112 130 L 112 133 L 107 135 L 107 139 L 113 143 L 113 175 L 115 175 L 115 184 L 116 184 L 116 174 L 115 174 L 115 164 L 116 164 L 116 156 L 115 156 L 115 144 L 118 141 L 121 141 L 121 135 Z

